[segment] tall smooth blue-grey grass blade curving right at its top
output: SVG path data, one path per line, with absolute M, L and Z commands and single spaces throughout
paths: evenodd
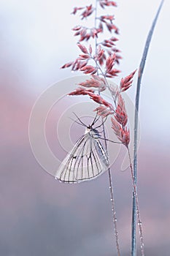
M 139 94 L 140 94 L 140 87 L 141 87 L 141 80 L 144 71 L 144 65 L 147 59 L 147 52 L 150 46 L 150 41 L 152 39 L 152 33 L 155 29 L 155 24 L 158 20 L 158 15 L 161 11 L 161 7 L 163 5 L 163 1 L 158 8 L 158 12 L 155 15 L 155 19 L 152 22 L 152 26 L 150 28 L 149 34 L 147 36 L 147 41 L 144 45 L 144 52 L 142 55 L 142 60 L 139 65 L 139 73 L 138 73 L 138 80 L 137 80 L 137 89 L 136 89 L 136 111 L 134 117 L 134 182 L 135 185 L 137 183 L 137 140 L 138 140 L 138 113 L 139 113 Z M 136 256 L 136 199 L 135 193 L 133 193 L 133 206 L 132 206 L 132 230 L 131 230 L 131 256 Z

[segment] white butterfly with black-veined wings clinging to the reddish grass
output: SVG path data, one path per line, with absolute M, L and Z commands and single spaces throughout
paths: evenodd
M 80 118 L 78 119 L 80 123 L 76 122 L 85 126 L 85 134 L 77 140 L 55 173 L 55 178 L 65 183 L 91 180 L 109 168 L 107 151 L 100 142 L 101 133 L 97 129 L 102 124 L 93 128 L 98 120 L 94 118 L 93 123 L 87 127 Z

